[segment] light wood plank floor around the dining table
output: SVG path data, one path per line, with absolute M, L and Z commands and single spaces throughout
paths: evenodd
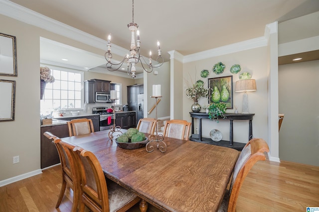
M 0 187 L 0 212 L 69 212 L 72 190 L 67 188 L 55 209 L 61 186 L 60 167 Z M 260 161 L 245 179 L 237 212 L 306 212 L 319 207 L 319 167 L 292 162 Z M 137 212 L 138 206 L 130 212 Z M 158 212 L 149 207 L 148 212 Z

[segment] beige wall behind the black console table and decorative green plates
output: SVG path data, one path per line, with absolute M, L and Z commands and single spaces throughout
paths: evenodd
M 249 112 L 255 113 L 253 119 L 253 135 L 268 140 L 267 127 L 267 47 L 259 47 L 246 51 L 240 51 L 232 54 L 221 55 L 204 60 L 185 63 L 183 65 L 183 88 L 187 88 L 186 81 L 195 83 L 201 79 L 205 86 L 208 85 L 208 78 L 233 76 L 233 104 L 238 105 L 238 111 L 242 111 L 242 93 L 235 93 L 235 82 L 239 80 L 239 74 L 249 72 L 252 79 L 256 80 L 257 91 L 248 93 L 249 97 Z M 216 75 L 211 71 L 214 64 L 222 62 L 226 68 L 220 75 Z M 230 67 L 234 64 L 240 64 L 242 70 L 239 74 L 231 74 Z M 200 71 L 207 69 L 210 72 L 208 78 L 200 77 Z M 197 70 L 197 71 L 196 71 Z M 191 121 L 189 111 L 193 101 L 188 99 L 185 91 L 183 97 L 183 119 Z M 206 98 L 201 98 L 199 104 L 207 104 Z M 204 109 L 201 109 L 204 111 Z M 226 112 L 234 112 L 234 109 L 228 109 Z M 198 126 L 198 122 L 194 123 L 194 129 Z M 224 140 L 229 140 L 229 121 L 220 120 L 219 123 L 209 119 L 202 120 L 203 137 L 209 137 L 209 132 L 212 129 L 219 129 L 223 134 Z M 247 143 L 248 142 L 248 121 L 234 121 L 234 141 Z

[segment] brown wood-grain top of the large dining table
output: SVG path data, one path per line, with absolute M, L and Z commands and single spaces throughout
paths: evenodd
M 93 152 L 107 178 L 170 212 L 217 211 L 239 156 L 235 149 L 168 137 L 164 153 L 122 149 L 108 130 L 62 140 Z

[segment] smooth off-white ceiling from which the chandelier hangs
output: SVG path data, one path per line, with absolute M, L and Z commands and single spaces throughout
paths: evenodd
M 10 1 L 104 40 L 111 33 L 113 44 L 130 48 L 127 24 L 132 22 L 131 0 Z M 189 55 L 261 37 L 266 24 L 316 11 L 319 0 L 135 0 L 134 22 L 139 24 L 142 54 L 156 52 L 159 40 L 162 56 L 169 61 L 168 51 Z M 88 53 L 73 50 L 79 55 Z M 44 51 L 41 48 L 41 57 Z M 54 57 L 52 51 L 50 54 L 41 59 L 50 60 Z M 104 55 L 88 54 L 96 57 L 95 66 L 103 67 Z M 77 66 L 92 68 L 81 56 L 76 58 L 82 62 Z

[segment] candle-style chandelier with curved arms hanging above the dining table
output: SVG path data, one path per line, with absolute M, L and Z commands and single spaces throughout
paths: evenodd
M 144 57 L 141 55 L 140 52 L 140 32 L 138 30 L 138 24 L 134 23 L 134 0 L 132 0 L 132 22 L 128 24 L 129 30 L 131 31 L 132 34 L 132 39 L 131 39 L 131 50 L 129 52 L 129 54 L 127 54 L 123 60 L 120 63 L 114 63 L 111 62 L 111 58 L 112 58 L 112 53 L 111 53 L 111 35 L 108 36 L 108 51 L 105 53 L 105 59 L 108 61 L 108 63 L 106 64 L 106 68 L 109 71 L 117 71 L 121 68 L 121 66 L 123 65 L 123 63 L 126 61 L 127 62 L 127 66 L 128 66 L 128 75 L 132 74 L 131 77 L 135 78 L 136 75 L 136 67 L 135 64 L 141 62 L 141 65 L 144 69 L 144 71 L 151 73 L 153 71 L 153 68 L 158 68 L 160 67 L 163 62 L 164 59 L 161 57 L 161 50 L 160 50 L 160 42 L 158 41 L 158 57 L 156 59 L 156 61 L 158 62 L 157 65 L 153 65 L 152 64 L 152 52 L 150 51 L 150 57 L 148 59 L 148 62 L 144 59 Z M 136 36 L 136 42 L 135 42 L 135 36 Z M 142 61 L 143 59 L 143 61 Z

